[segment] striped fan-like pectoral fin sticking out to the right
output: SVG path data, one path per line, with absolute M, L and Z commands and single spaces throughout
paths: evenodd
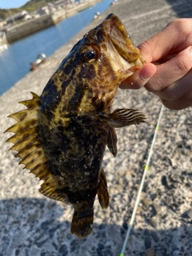
M 136 125 L 141 122 L 146 122 L 146 116 L 139 110 L 133 109 L 117 109 L 114 112 L 101 116 L 103 121 L 106 121 L 114 128 Z

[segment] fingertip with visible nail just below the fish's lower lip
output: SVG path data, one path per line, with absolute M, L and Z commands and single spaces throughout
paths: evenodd
M 152 63 L 146 63 L 141 69 L 136 70 L 130 78 L 122 81 L 119 86 L 121 89 L 139 89 L 146 85 L 146 82 L 154 75 L 157 68 Z

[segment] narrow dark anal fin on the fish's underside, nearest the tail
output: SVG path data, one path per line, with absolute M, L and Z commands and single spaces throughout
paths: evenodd
M 102 209 L 106 209 L 110 203 L 110 196 L 107 190 L 106 174 L 102 169 L 100 174 L 100 181 L 98 183 L 98 201 Z

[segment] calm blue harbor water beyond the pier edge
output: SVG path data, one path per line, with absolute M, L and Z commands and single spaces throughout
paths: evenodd
M 64 19 L 57 26 L 51 26 L 27 38 L 22 38 L 2 51 L 0 53 L 0 94 L 9 90 L 30 72 L 30 62 L 35 62 L 38 54 L 44 53 L 49 57 L 87 26 L 96 12 L 104 12 L 111 2 L 112 0 L 98 2 L 95 6 Z

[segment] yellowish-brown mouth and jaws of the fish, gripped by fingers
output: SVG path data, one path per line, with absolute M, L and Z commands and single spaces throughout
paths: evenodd
M 117 16 L 114 14 L 108 15 L 105 23 L 106 34 L 108 34 L 108 53 L 115 60 L 114 66 L 116 68 L 121 67 L 122 71 L 126 72 L 126 77 L 128 77 L 140 68 L 145 61 Z

